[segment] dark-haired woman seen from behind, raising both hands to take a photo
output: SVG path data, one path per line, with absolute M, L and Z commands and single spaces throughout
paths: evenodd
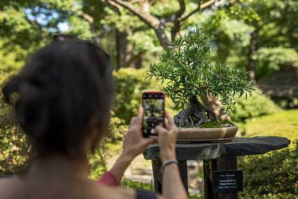
M 25 174 L 0 180 L 0 199 L 187 198 L 175 164 L 178 130 L 166 114 L 166 126 L 156 127 L 158 138 L 142 138 L 142 108 L 131 119 L 123 153 L 102 183 L 88 179 L 87 152 L 96 148 L 109 124 L 111 70 L 109 57 L 97 45 L 66 39 L 37 51 L 6 83 L 3 94 L 15 103 L 34 154 Z M 119 184 L 131 160 L 156 142 L 166 163 L 162 195 L 105 185 Z M 111 179 L 116 182 L 109 183 Z

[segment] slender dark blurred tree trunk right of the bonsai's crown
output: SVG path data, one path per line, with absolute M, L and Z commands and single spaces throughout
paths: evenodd
M 249 45 L 249 52 L 248 52 L 248 65 L 247 71 L 249 72 L 249 78 L 253 83 L 255 83 L 255 69 L 256 69 L 256 62 L 255 56 L 257 54 L 257 39 L 258 39 L 258 30 L 256 29 L 251 33 L 251 41 Z

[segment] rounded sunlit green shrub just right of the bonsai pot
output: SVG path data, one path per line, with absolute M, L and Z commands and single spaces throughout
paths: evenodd
M 256 90 L 252 96 L 242 96 L 236 99 L 236 112 L 232 115 L 235 122 L 243 122 L 248 118 L 264 116 L 279 112 L 279 108 L 270 98 L 262 94 L 261 90 Z

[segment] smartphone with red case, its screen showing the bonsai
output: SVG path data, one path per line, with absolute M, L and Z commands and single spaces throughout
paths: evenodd
M 142 107 L 142 135 L 145 138 L 158 136 L 155 132 L 156 125 L 164 127 L 164 92 L 142 92 Z

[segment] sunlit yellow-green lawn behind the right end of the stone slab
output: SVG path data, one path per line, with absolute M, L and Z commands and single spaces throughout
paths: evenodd
M 298 109 L 253 118 L 243 125 L 244 136 L 284 136 L 298 139 Z

